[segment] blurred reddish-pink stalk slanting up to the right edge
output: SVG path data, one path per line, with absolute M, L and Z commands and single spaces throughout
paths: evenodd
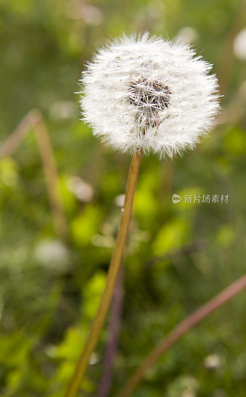
M 133 376 L 127 381 L 118 397 L 129 397 L 136 389 L 137 385 L 144 378 L 146 372 L 155 362 L 172 347 L 187 331 L 194 328 L 198 323 L 205 319 L 209 314 L 227 303 L 236 294 L 246 288 L 246 274 L 225 288 L 222 292 L 195 310 L 186 317 L 177 327 L 175 327 L 144 359 L 143 363 L 137 368 Z

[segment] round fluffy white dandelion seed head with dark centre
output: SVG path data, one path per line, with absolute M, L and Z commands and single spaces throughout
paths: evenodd
M 100 49 L 82 73 L 84 120 L 123 152 L 173 157 L 193 149 L 219 111 L 211 67 L 184 44 L 124 35 Z

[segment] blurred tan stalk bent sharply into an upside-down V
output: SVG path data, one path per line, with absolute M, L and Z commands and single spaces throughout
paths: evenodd
M 43 163 L 47 193 L 55 230 L 60 239 L 68 241 L 68 226 L 59 187 L 59 175 L 49 133 L 42 113 L 33 109 L 21 120 L 9 138 L 0 147 L 0 156 L 12 156 L 29 131 L 34 130 Z

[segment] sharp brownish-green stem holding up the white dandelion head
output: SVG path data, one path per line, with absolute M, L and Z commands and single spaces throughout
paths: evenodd
M 122 209 L 121 222 L 117 234 L 116 245 L 109 265 L 105 289 L 102 294 L 101 301 L 97 309 L 97 313 L 92 322 L 92 326 L 89 331 L 86 343 L 79 356 L 73 376 L 68 385 L 68 389 L 66 391 L 65 397 L 75 397 L 77 395 L 81 381 L 84 377 L 85 371 L 88 366 L 90 355 L 91 353 L 93 353 L 97 345 L 100 333 L 102 331 L 109 310 L 112 295 L 114 292 L 115 283 L 123 259 L 123 253 L 126 244 L 129 224 L 130 224 L 132 204 L 133 204 L 133 198 L 137 184 L 140 162 L 141 162 L 141 152 L 140 150 L 136 150 L 136 152 L 133 154 L 131 159 L 130 169 L 126 183 L 125 199 L 124 199 L 124 206 Z

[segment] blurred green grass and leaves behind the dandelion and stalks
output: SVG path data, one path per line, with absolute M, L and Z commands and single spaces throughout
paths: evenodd
M 79 121 L 74 92 L 109 37 L 149 30 L 194 45 L 224 95 L 218 127 L 196 150 L 142 160 L 109 396 L 177 322 L 245 272 L 245 28 L 241 0 L 0 1 L 0 142 L 41 110 L 69 235 L 56 233 L 31 130 L 0 158 L 0 396 L 63 396 L 103 290 L 130 158 Z M 229 201 L 173 204 L 174 193 Z M 81 396 L 100 383 L 107 325 Z M 245 397 L 246 292 L 189 332 L 133 396 Z

